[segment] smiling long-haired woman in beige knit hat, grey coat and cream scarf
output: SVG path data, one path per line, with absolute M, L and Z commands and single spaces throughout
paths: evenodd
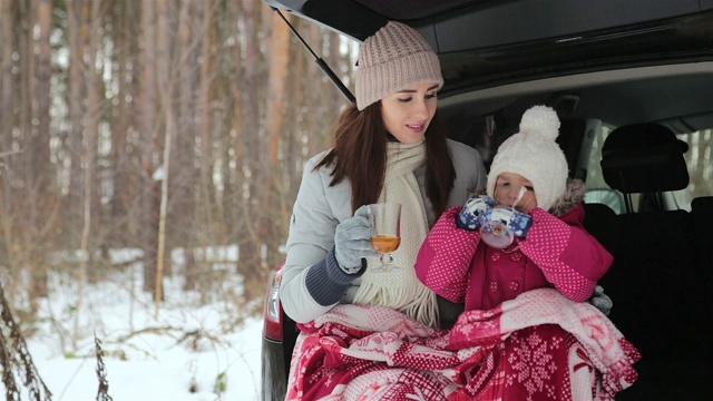
M 438 325 L 437 299 L 416 277 L 416 255 L 437 217 L 486 184 L 480 154 L 439 127 L 442 85 L 436 53 L 410 27 L 389 22 L 364 41 L 356 105 L 342 113 L 334 147 L 306 163 L 294 204 L 280 296 L 295 322 L 360 303 Z M 402 204 L 393 255 L 408 268 L 375 276 L 372 227 L 360 207 L 378 202 Z

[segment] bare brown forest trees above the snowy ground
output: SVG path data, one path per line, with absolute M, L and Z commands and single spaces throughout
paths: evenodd
M 350 86 L 356 45 L 285 18 Z M 164 275 L 218 288 L 208 245 L 237 247 L 236 303 L 263 295 L 302 167 L 346 105 L 280 16 L 260 0 L 0 0 L 0 271 L 21 322 L 50 270 L 81 313 L 113 248 L 143 251 L 157 304 Z

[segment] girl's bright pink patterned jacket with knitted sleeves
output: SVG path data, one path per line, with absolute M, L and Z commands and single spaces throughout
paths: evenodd
M 487 310 L 525 291 L 555 287 L 574 301 L 588 300 L 612 265 L 612 255 L 584 229 L 578 203 L 559 217 L 531 211 L 527 238 L 505 250 L 480 243 L 480 233 L 456 226 L 462 206 L 446 211 L 421 246 L 416 274 L 466 311 Z

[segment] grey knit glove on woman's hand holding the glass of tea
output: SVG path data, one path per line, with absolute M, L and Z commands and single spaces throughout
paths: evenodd
M 353 217 L 344 219 L 334 233 L 334 257 L 344 273 L 359 273 L 362 258 L 379 255 L 371 245 L 374 232 L 373 222 L 369 218 L 369 208 L 361 206 Z

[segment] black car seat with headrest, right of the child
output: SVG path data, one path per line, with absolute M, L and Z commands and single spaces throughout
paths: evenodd
M 626 213 L 589 207 L 596 223 L 587 218 L 585 226 L 614 255 L 599 282 L 614 301 L 609 317 L 643 355 L 639 383 L 617 400 L 690 400 L 709 391 L 712 303 L 701 282 L 709 273 L 688 212 L 666 211 L 663 196 L 688 185 L 683 151 L 673 131 L 657 124 L 619 127 L 602 148 L 604 179 L 622 192 Z M 653 202 L 634 211 L 633 194 L 651 194 Z

